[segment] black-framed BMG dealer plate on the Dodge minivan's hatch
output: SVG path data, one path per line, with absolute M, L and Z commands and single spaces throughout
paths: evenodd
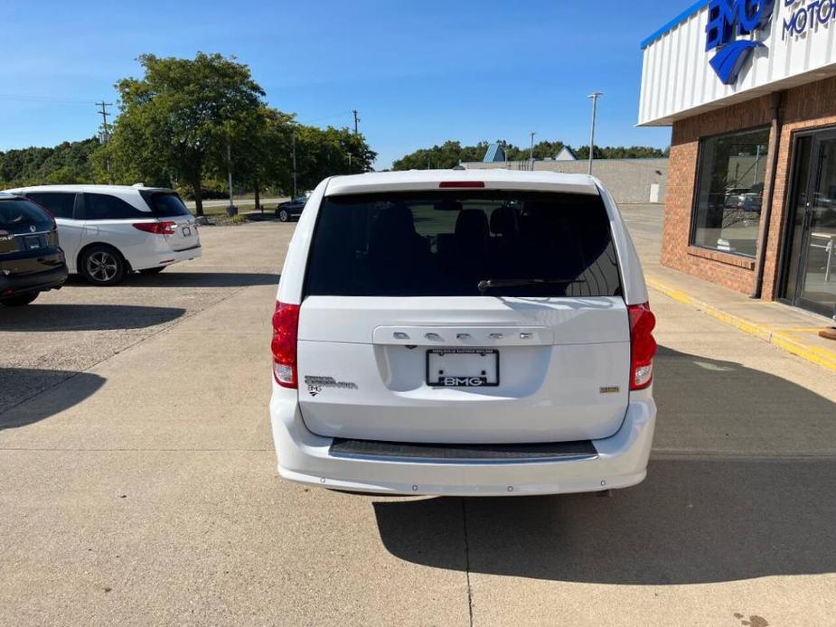
M 430 349 L 427 385 L 434 388 L 491 388 L 499 385 L 499 351 Z

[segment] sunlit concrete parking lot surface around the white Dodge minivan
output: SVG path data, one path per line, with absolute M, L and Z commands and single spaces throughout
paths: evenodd
M 661 209 L 625 208 L 652 237 Z M 277 479 L 269 322 L 293 224 L 0 309 L 0 624 L 836 622 L 836 376 L 651 294 L 659 422 L 612 497 Z

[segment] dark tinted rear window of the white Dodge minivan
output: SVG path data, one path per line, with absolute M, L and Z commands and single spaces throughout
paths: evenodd
M 601 197 L 394 192 L 324 198 L 305 295 L 616 296 Z

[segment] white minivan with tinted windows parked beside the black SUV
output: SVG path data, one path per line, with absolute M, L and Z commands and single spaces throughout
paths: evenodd
M 41 204 L 58 224 L 70 272 L 114 285 L 201 256 L 191 212 L 171 190 L 134 185 L 39 185 L 7 190 Z

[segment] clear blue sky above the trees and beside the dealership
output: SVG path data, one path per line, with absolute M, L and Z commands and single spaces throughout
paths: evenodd
M 634 127 L 639 42 L 687 4 L 6 0 L 0 150 L 95 135 L 91 103 L 115 101 L 139 54 L 196 51 L 248 63 L 268 103 L 301 122 L 350 126 L 357 108 L 378 168 L 446 139 L 585 144 L 593 90 L 605 92 L 596 144 L 663 147 L 669 129 Z

